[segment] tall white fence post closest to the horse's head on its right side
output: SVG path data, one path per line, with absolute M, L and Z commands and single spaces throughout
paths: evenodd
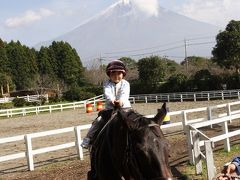
M 188 125 L 188 122 L 187 122 L 186 111 L 182 112 L 182 116 L 183 116 L 183 120 L 182 120 L 183 129 L 184 129 L 184 132 L 187 136 L 189 163 L 190 164 L 195 164 L 194 157 L 193 157 L 192 137 L 191 137 L 190 128 L 189 128 L 189 125 Z

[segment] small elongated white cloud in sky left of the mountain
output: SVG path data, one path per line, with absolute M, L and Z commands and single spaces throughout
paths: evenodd
M 51 10 L 44 9 L 44 8 L 41 8 L 38 11 L 29 10 L 29 11 L 26 11 L 21 16 L 8 18 L 5 21 L 5 24 L 7 27 L 15 28 L 15 27 L 33 23 L 35 21 L 39 21 L 39 20 L 41 20 L 45 17 L 51 16 L 53 14 L 54 13 Z

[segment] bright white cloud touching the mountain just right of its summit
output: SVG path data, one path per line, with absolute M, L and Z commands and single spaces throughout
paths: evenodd
M 125 2 L 126 1 L 129 0 L 125 0 Z M 131 0 L 131 3 L 149 16 L 158 16 L 158 0 Z

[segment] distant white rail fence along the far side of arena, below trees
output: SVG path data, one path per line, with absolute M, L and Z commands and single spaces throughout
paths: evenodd
M 30 96 L 25 98 L 28 101 L 31 101 Z M 138 102 L 165 102 L 165 101 L 197 101 L 197 100 L 212 100 L 212 99 L 225 99 L 225 98 L 238 98 L 240 99 L 240 90 L 225 90 L 225 91 L 202 91 L 202 92 L 183 92 L 183 93 L 168 93 L 168 94 L 141 94 L 141 95 L 132 95 L 129 100 L 132 103 Z M 34 107 L 24 107 L 24 108 L 14 108 L 14 109 L 1 109 L 0 117 L 12 117 L 14 115 L 26 114 L 39 114 L 41 112 L 52 111 L 63 111 L 64 109 L 76 109 L 76 108 L 85 108 L 87 103 L 92 103 L 93 107 L 96 107 L 97 101 L 105 101 L 103 95 L 99 95 L 84 101 L 73 102 L 73 103 L 61 103 L 54 105 L 44 105 L 44 106 L 34 106 Z

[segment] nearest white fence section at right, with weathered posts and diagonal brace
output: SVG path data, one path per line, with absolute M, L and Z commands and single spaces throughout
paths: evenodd
M 193 157 L 194 164 L 196 167 L 196 174 L 202 173 L 202 158 L 206 159 L 207 164 L 207 174 L 208 179 L 211 180 L 216 175 L 216 168 L 214 166 L 213 160 L 213 148 L 214 143 L 218 141 L 224 140 L 224 149 L 226 151 L 230 151 L 230 137 L 239 136 L 240 130 L 235 130 L 232 132 L 228 131 L 228 122 L 235 121 L 240 119 L 240 114 L 230 115 L 218 119 L 214 119 L 207 122 L 195 123 L 190 125 L 190 134 L 193 143 Z M 214 124 L 220 124 L 222 126 L 222 134 L 215 137 L 208 137 L 204 133 L 202 133 L 199 128 L 212 126 Z M 201 152 L 201 147 L 205 147 L 205 155 Z

